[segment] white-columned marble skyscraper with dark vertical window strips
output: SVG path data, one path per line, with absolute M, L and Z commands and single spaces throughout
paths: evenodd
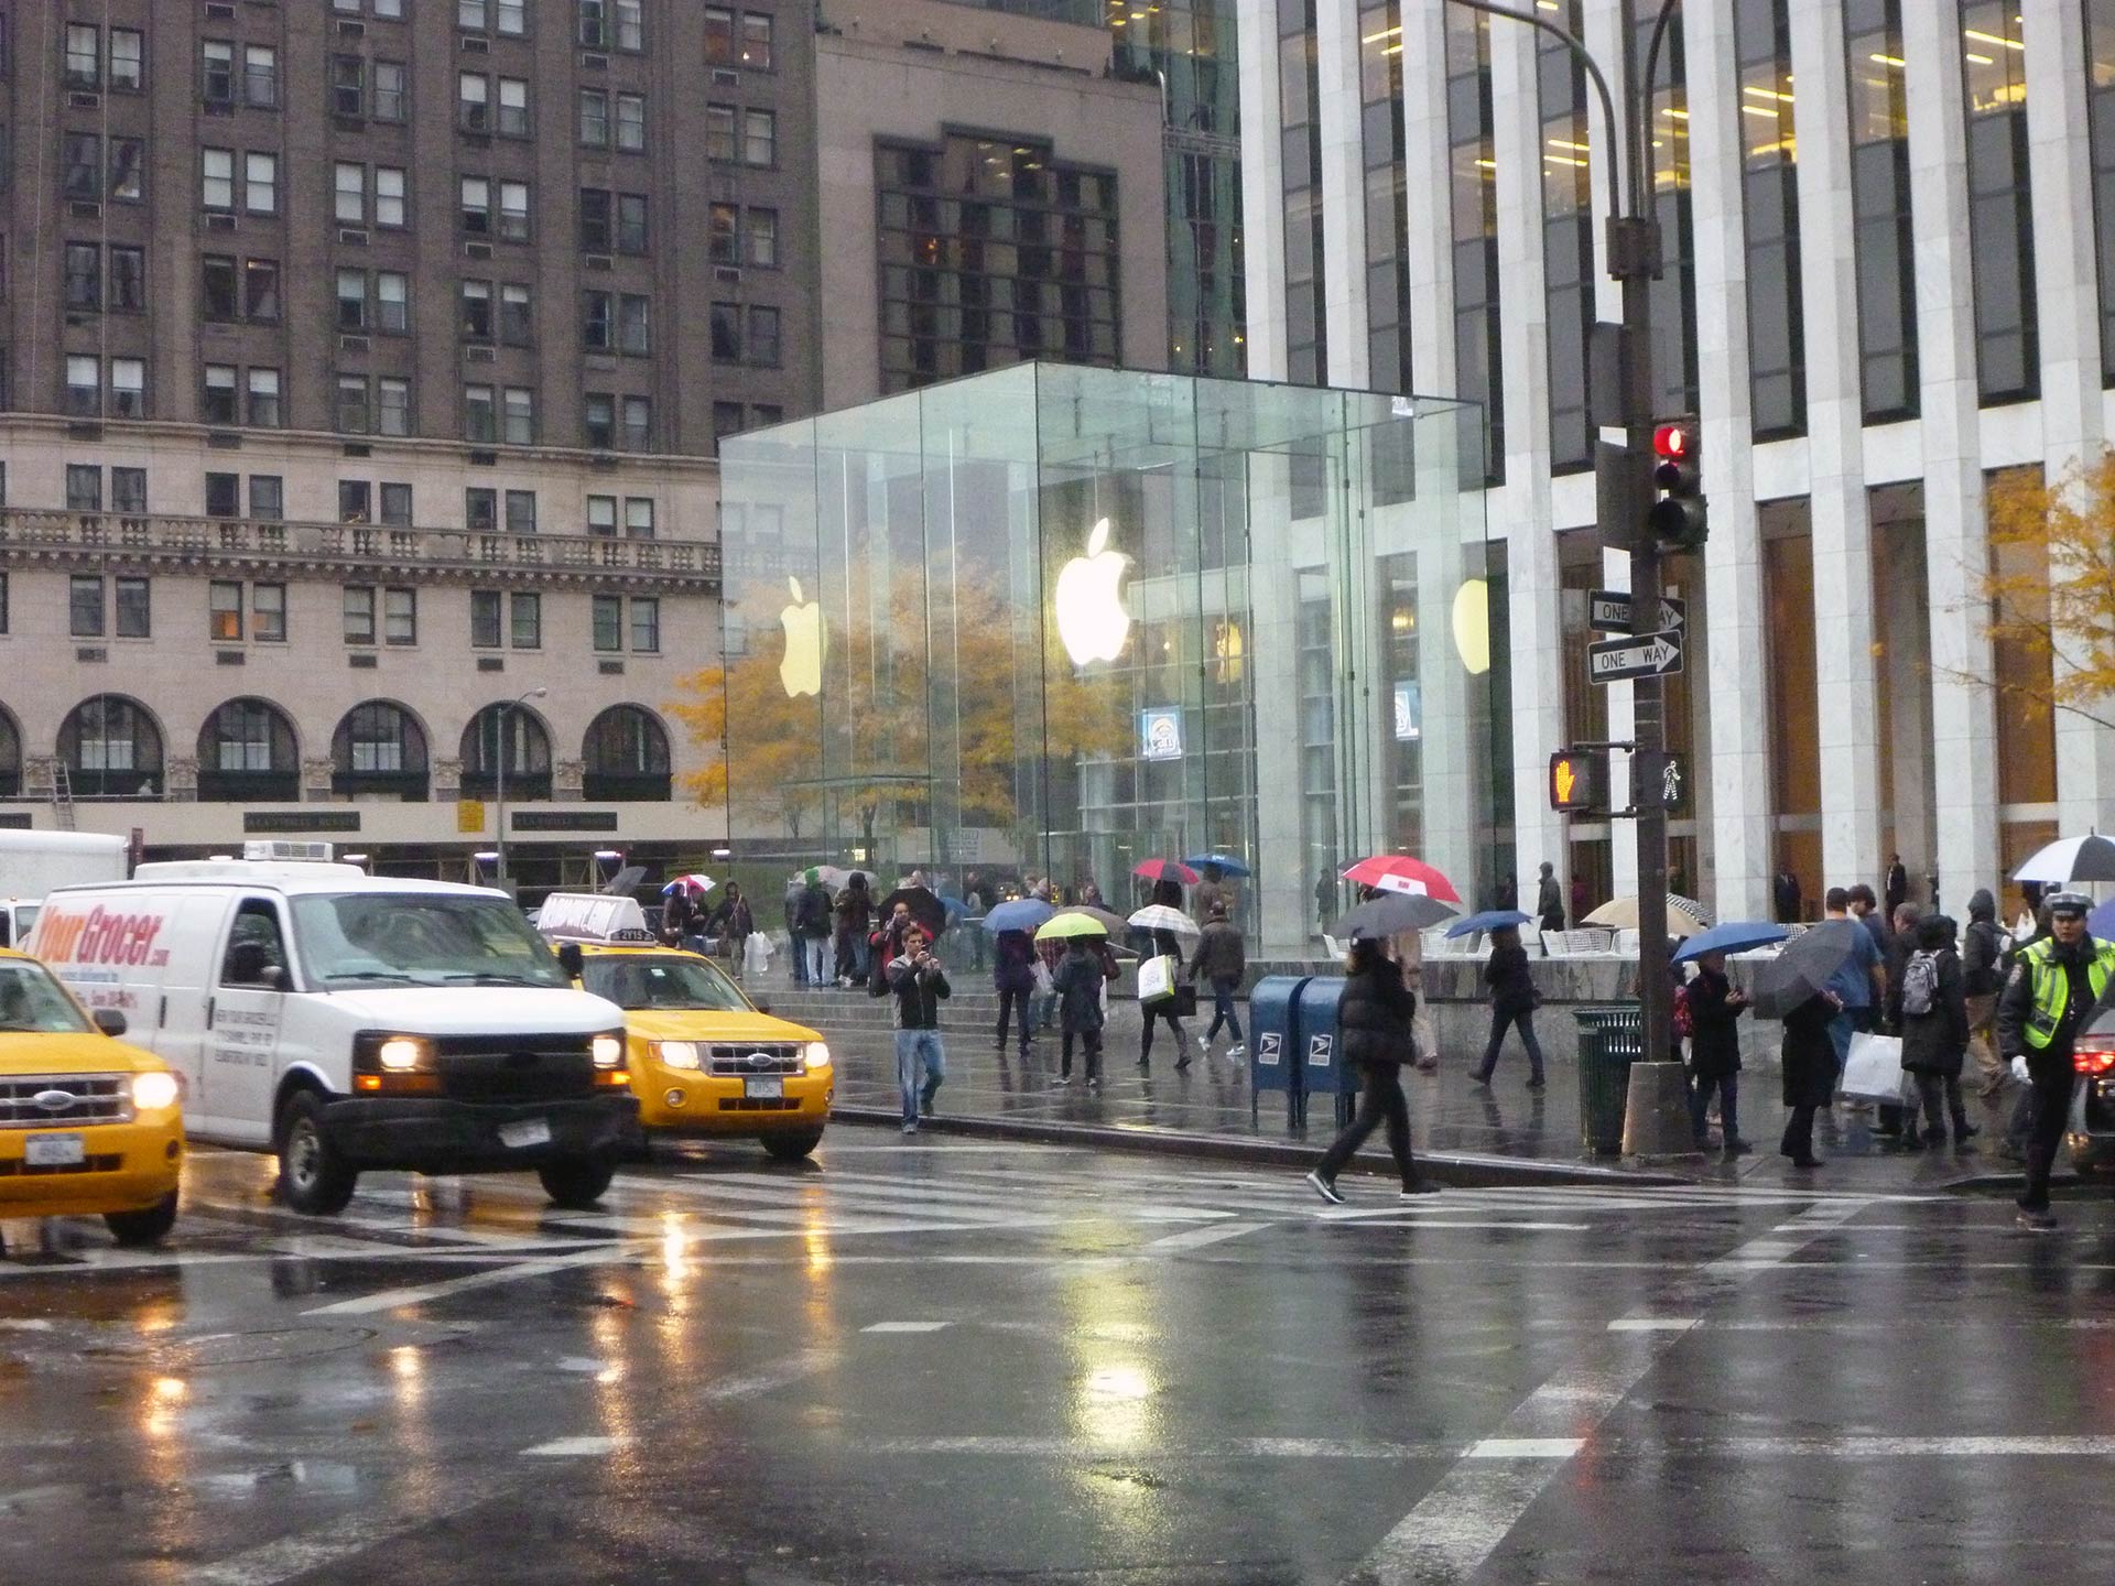
M 1535 13 L 1624 93 L 1618 0 Z M 1483 404 L 1508 859 L 1624 892 L 1622 825 L 1538 793 L 1552 749 L 1629 727 L 1629 685 L 1584 664 L 1586 592 L 1626 577 L 1595 529 L 1601 104 L 1561 42 L 1440 0 L 1239 23 L 1248 368 Z M 1958 916 L 2115 801 L 2115 732 L 2005 696 L 2035 662 L 1980 596 L 1992 478 L 2115 434 L 2115 0 L 1692 2 L 1631 95 L 1656 402 L 1700 414 L 1711 497 L 1709 546 L 1669 565 L 1681 890 L 1766 918 L 1789 875 L 1813 916 L 1899 852 Z

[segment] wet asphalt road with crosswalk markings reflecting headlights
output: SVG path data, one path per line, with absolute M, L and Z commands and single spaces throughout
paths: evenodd
M 778 1169 L 199 1155 L 0 1260 L 0 1582 L 2115 1578 L 2115 1205 L 1449 1191 L 840 1125 Z

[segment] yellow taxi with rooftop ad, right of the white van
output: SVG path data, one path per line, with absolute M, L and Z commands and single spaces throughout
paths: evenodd
M 558 960 L 584 992 L 624 1009 L 632 1095 L 649 1138 L 757 1140 L 778 1161 L 821 1144 L 838 1074 L 814 1030 L 759 1011 L 711 958 L 664 947 L 643 926 L 594 930 L 563 899 L 544 905 L 539 926 L 558 939 Z

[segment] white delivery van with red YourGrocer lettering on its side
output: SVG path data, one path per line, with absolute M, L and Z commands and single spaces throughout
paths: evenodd
M 51 892 L 30 952 L 184 1076 L 192 1140 L 279 1155 L 300 1212 L 366 1167 L 535 1167 L 590 1205 L 639 1144 L 624 1013 L 503 895 L 241 859 Z

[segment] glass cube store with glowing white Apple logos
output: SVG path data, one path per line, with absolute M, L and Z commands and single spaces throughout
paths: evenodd
M 1250 954 L 1326 878 L 1510 869 L 1504 546 L 1476 408 L 1017 364 L 721 444 L 747 861 L 1136 901 L 1229 854 Z

